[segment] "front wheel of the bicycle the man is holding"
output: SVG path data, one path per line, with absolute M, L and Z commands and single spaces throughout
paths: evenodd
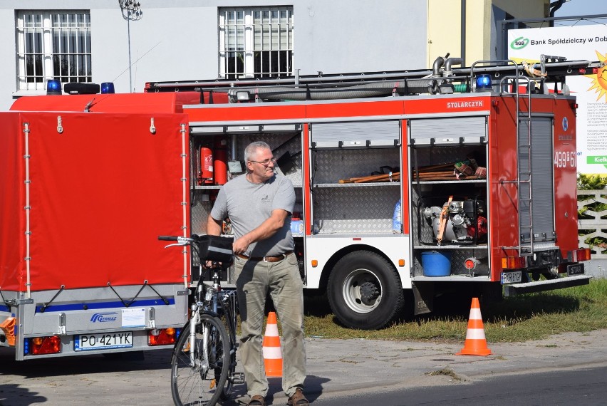
M 191 332 L 194 329 L 192 337 Z M 219 319 L 201 314 L 186 325 L 171 358 L 171 393 L 177 406 L 212 406 L 222 395 L 229 370 L 229 340 Z

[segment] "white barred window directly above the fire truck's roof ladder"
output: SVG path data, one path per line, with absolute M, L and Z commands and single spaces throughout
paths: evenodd
M 219 74 L 268 78 L 293 74 L 293 7 L 219 9 Z

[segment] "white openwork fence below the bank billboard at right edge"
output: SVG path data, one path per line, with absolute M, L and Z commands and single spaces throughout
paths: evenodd
M 578 202 L 578 211 L 593 203 L 607 204 L 607 190 L 578 190 L 578 196 L 586 196 L 585 199 Z M 580 248 L 590 248 L 592 251 L 592 259 L 607 259 L 607 254 L 601 254 L 607 250 L 607 210 L 595 212 L 591 209 L 586 209 L 586 216 L 593 219 L 578 220 L 578 229 L 584 230 L 578 236 Z M 586 234 L 586 231 L 591 231 Z M 583 234 L 583 235 L 582 235 Z M 586 244 L 587 239 L 594 237 L 602 237 L 605 241 L 598 244 Z

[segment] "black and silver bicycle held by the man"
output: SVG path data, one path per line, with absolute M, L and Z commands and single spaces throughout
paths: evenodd
M 200 271 L 190 321 L 183 326 L 171 357 L 173 402 L 177 406 L 212 406 L 219 399 L 228 400 L 234 385 L 244 383 L 244 374 L 236 372 L 236 290 L 222 289 L 220 284 L 222 271 L 232 261 L 232 241 L 196 234 L 190 238 L 159 236 L 158 239 L 177 241 L 165 248 L 191 246 Z M 207 261 L 213 261 L 212 286 L 202 281 Z

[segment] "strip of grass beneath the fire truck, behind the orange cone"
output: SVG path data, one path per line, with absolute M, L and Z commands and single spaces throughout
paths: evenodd
M 382 330 L 354 330 L 338 324 L 328 304 L 306 299 L 306 336 L 373 340 L 465 340 L 469 313 L 436 313 L 398 321 Z M 487 341 L 515 343 L 541 340 L 549 335 L 607 328 L 607 279 L 589 285 L 504 298 L 481 303 Z

